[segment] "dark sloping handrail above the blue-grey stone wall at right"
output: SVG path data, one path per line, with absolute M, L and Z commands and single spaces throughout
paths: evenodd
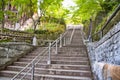
M 116 8 L 116 10 L 113 12 L 113 14 L 110 16 L 110 18 L 107 20 L 107 22 L 105 23 L 105 25 L 98 32 L 94 33 L 92 35 L 92 37 L 95 36 L 95 35 L 97 35 L 97 34 L 99 34 L 99 33 L 101 33 L 101 32 L 102 32 L 102 36 L 103 36 L 103 30 L 107 27 L 107 25 L 109 24 L 109 22 L 115 17 L 115 15 L 119 12 L 119 10 L 120 10 L 120 4 Z

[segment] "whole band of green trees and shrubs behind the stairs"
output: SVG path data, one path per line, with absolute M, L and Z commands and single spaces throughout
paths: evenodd
M 84 24 L 84 30 L 88 35 L 91 20 L 92 33 L 94 34 L 102 28 L 120 3 L 120 0 L 73 1 L 76 6 L 65 9 L 62 6 L 63 0 L 1 0 L 0 24 L 2 24 L 2 28 L 6 23 L 23 25 L 26 20 L 31 18 L 33 25 L 26 31 L 47 35 L 44 39 L 55 39 L 55 37 L 51 37 L 62 33 L 65 30 L 66 22 L 68 22 L 67 24 Z M 33 15 L 37 13 L 38 9 L 40 9 L 40 15 L 38 14 L 38 17 L 34 19 Z

